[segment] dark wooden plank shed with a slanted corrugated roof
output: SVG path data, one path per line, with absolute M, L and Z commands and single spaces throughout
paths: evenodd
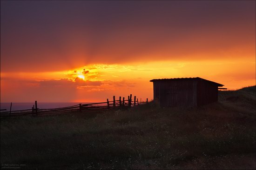
M 218 101 L 218 87 L 222 84 L 203 78 L 152 79 L 154 100 L 161 107 L 193 107 Z M 223 88 L 224 89 L 224 88 Z

